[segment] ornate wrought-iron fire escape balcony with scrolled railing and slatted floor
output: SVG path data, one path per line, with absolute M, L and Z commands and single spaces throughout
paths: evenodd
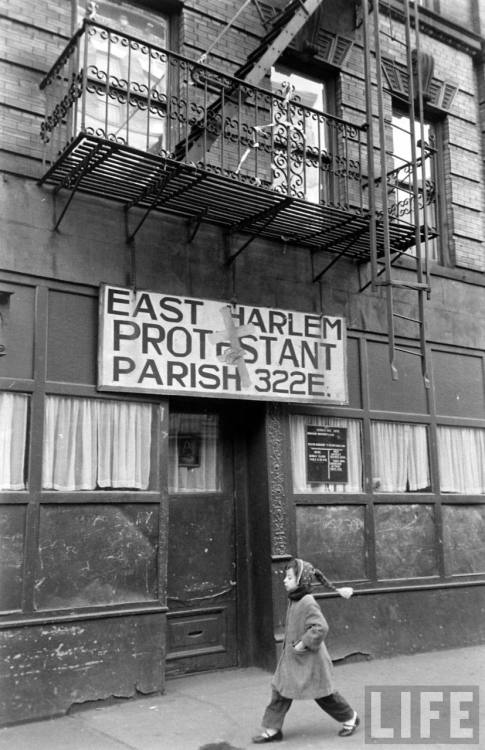
M 41 88 L 40 183 L 70 191 L 67 205 L 80 191 L 369 259 L 365 125 L 90 20 Z M 392 217 L 391 237 L 412 244 Z

